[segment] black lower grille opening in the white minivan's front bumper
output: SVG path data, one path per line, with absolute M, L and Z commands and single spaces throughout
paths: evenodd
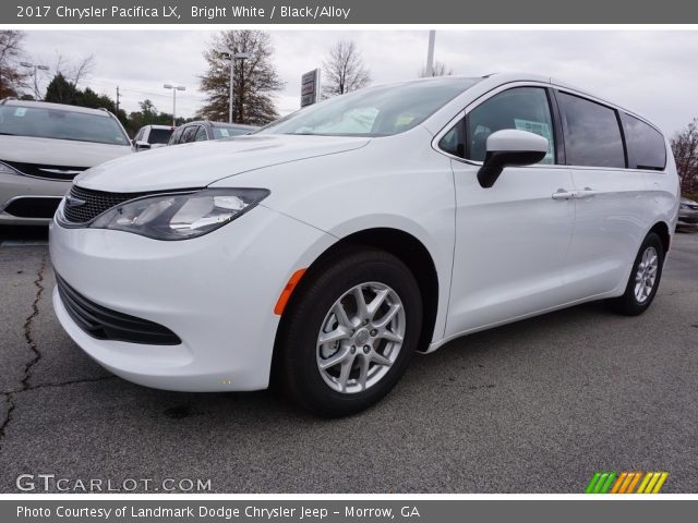
M 58 275 L 56 283 L 70 317 L 93 338 L 147 345 L 178 345 L 182 342 L 167 327 L 97 305 Z

